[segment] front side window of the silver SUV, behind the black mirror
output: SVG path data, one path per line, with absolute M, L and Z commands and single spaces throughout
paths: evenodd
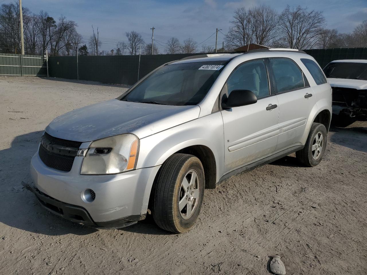
M 228 95 L 233 90 L 250 90 L 257 98 L 269 95 L 264 60 L 248 61 L 237 67 L 227 81 Z

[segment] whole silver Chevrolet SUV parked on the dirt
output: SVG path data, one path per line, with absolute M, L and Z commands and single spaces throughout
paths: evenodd
M 77 223 L 121 228 L 151 213 L 182 233 L 206 188 L 293 152 L 319 164 L 330 119 L 331 87 L 302 51 L 183 58 L 116 99 L 55 118 L 26 187 Z

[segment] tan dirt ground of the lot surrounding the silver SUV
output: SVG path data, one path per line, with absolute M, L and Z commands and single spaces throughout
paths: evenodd
M 319 166 L 288 156 L 206 190 L 185 234 L 152 218 L 95 230 L 48 213 L 21 181 L 55 117 L 126 88 L 0 77 L 0 274 L 367 274 L 367 122 L 333 126 Z

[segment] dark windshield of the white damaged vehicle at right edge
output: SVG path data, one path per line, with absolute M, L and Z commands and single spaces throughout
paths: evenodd
M 324 68 L 327 78 L 367 80 L 367 63 L 331 62 Z

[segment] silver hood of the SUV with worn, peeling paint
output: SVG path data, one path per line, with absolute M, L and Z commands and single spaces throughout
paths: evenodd
M 200 107 L 112 99 L 70 111 L 46 127 L 51 136 L 88 142 L 123 133 L 140 139 L 199 117 Z

